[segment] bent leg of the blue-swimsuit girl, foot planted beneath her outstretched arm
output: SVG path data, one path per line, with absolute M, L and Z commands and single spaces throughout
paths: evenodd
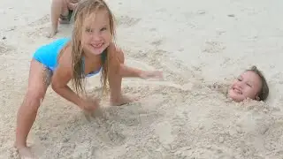
M 118 51 L 117 53 L 119 56 L 119 64 L 124 64 L 124 53 L 122 51 Z M 111 105 L 119 106 L 128 102 L 132 102 L 133 100 L 122 95 L 122 76 L 119 75 L 119 72 L 117 72 L 116 68 L 116 64 L 110 64 L 108 78 L 111 91 Z

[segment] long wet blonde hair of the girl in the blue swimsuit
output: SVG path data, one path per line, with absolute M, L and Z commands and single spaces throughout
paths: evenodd
M 73 68 L 73 87 L 78 94 L 85 94 L 84 87 L 84 65 L 82 61 L 82 56 L 84 51 L 81 46 L 81 33 L 82 33 L 82 24 L 84 20 L 90 15 L 95 14 L 96 11 L 105 10 L 108 12 L 111 36 L 114 38 L 115 36 L 115 28 L 114 28 L 114 16 L 111 13 L 108 5 L 103 0 L 81 0 L 75 11 L 73 11 L 72 22 L 73 22 L 73 35 L 72 35 L 72 68 Z M 107 81 L 108 81 L 108 61 L 109 56 L 107 56 L 108 50 L 104 50 L 103 54 L 101 54 L 102 59 L 102 76 L 101 83 L 103 85 L 103 92 L 106 90 Z

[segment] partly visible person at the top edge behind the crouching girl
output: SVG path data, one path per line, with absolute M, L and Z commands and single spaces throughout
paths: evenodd
M 51 2 L 51 30 L 49 37 L 57 34 L 58 21 L 68 24 L 80 0 L 52 0 Z

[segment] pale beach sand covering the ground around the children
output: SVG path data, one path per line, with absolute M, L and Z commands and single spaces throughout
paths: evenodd
M 34 50 L 51 42 L 50 1 L 0 0 L 0 158 L 19 158 L 16 113 Z M 26 4 L 27 3 L 27 4 Z M 123 107 L 88 122 L 48 90 L 28 143 L 40 158 L 283 158 L 282 0 L 108 0 L 126 63 L 164 71 L 164 81 L 125 79 Z M 71 34 L 60 26 L 55 38 Z M 224 90 L 256 64 L 267 102 L 234 103 Z M 99 76 L 88 80 L 97 95 Z M 212 86 L 212 87 L 211 87 Z M 213 87 L 213 86 L 216 86 Z

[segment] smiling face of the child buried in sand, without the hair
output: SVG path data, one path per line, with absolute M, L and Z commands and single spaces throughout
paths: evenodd
M 235 102 L 242 102 L 247 98 L 259 100 L 258 94 L 262 89 L 262 81 L 256 72 L 246 71 L 233 81 L 228 90 L 228 97 Z

